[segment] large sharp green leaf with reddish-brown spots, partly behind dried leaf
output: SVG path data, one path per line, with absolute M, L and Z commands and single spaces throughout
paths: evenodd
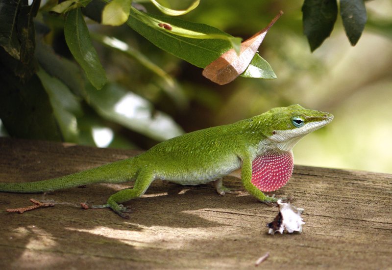
M 129 27 L 147 38 L 155 46 L 197 67 L 205 68 L 221 54 L 232 48 L 229 40 L 234 37 L 215 27 L 177 18 L 147 15 L 135 8 L 131 8 L 130 15 L 127 22 Z M 172 30 L 159 27 L 158 24 L 160 23 L 169 24 Z M 176 32 L 175 34 L 172 33 L 173 30 Z M 179 35 L 178 33 L 182 34 Z M 215 39 L 222 36 L 225 36 L 225 39 Z M 260 61 L 261 57 L 258 54 L 254 58 L 256 59 L 252 60 L 250 68 L 262 70 L 265 67 L 264 61 Z M 253 66 L 253 64 L 261 63 L 263 65 Z M 271 71 L 269 69 L 268 72 Z M 245 77 L 248 76 L 250 76 L 250 73 L 247 73 Z

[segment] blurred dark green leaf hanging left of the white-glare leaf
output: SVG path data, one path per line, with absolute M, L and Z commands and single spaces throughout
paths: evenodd
M 37 75 L 49 95 L 50 104 L 64 140 L 78 142 L 77 116 L 82 114 L 79 101 L 65 84 L 49 76 L 44 70 L 39 70 Z

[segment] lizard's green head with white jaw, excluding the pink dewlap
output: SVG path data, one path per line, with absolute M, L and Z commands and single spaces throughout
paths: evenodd
M 272 108 L 266 112 L 264 135 L 276 142 L 283 151 L 291 151 L 305 135 L 318 130 L 332 121 L 331 113 L 306 109 L 299 105 Z

